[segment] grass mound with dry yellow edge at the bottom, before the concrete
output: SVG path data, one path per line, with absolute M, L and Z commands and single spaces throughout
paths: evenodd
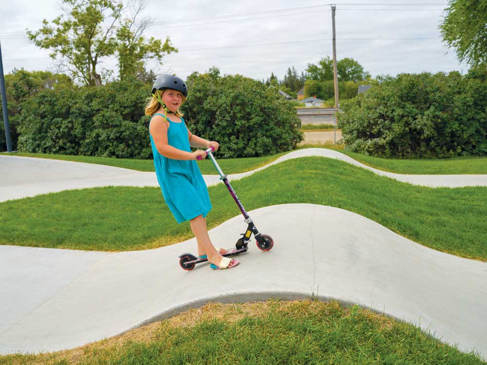
M 208 313 L 209 311 L 209 313 Z M 403 322 L 337 302 L 208 304 L 85 347 L 0 356 L 0 364 L 52 365 L 481 365 Z

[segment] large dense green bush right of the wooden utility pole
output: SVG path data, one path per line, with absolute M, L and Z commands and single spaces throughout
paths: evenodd
M 346 149 L 375 156 L 487 154 L 486 71 L 399 74 L 341 103 Z

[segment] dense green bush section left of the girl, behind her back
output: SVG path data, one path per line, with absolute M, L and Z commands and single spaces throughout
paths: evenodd
M 150 159 L 149 86 L 137 80 L 39 92 L 22 105 L 19 150 Z

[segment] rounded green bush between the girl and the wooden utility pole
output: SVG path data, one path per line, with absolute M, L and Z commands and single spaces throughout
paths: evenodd
M 187 78 L 182 106 L 188 128 L 218 141 L 224 158 L 257 157 L 288 151 L 302 141 L 293 103 L 277 88 L 241 75 L 220 76 L 216 68 Z

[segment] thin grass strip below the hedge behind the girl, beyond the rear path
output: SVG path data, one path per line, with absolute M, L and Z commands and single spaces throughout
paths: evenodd
M 225 172 L 225 174 L 237 174 L 240 172 L 251 171 L 256 168 L 270 164 L 279 157 L 285 155 L 288 152 L 282 152 L 277 155 L 264 156 L 264 157 L 250 157 L 250 158 L 237 158 L 237 159 L 218 159 L 218 164 Z M 137 171 L 155 171 L 153 160 L 132 160 L 132 159 L 116 159 L 110 157 L 93 157 L 93 156 L 71 156 L 71 155 L 53 155 L 43 153 L 1 153 L 2 155 L 20 156 L 20 157 L 36 157 L 54 160 L 65 160 L 74 162 L 84 162 L 87 164 L 102 164 L 107 166 L 115 166 L 128 168 Z M 205 159 L 198 162 L 202 174 L 218 175 L 215 167 L 211 163 L 210 159 Z

